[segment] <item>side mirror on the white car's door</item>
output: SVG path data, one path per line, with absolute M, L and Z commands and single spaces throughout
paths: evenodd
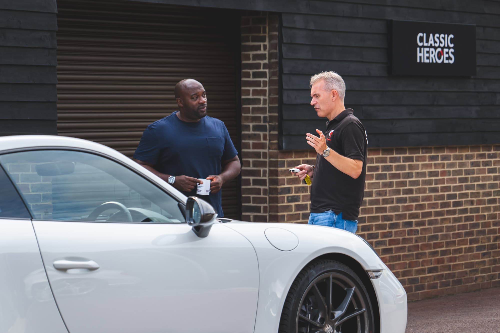
M 198 237 L 206 237 L 215 221 L 217 213 L 206 201 L 197 196 L 189 196 L 186 201 L 186 222 L 192 226 Z

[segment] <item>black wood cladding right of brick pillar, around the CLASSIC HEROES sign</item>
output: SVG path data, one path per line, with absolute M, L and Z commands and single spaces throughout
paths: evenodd
M 324 130 L 309 105 L 309 78 L 324 70 L 344 78 L 370 147 L 500 143 L 500 2 L 304 2 L 282 13 L 281 148 L 310 149 L 305 133 Z M 389 75 L 391 19 L 475 24 L 476 75 Z

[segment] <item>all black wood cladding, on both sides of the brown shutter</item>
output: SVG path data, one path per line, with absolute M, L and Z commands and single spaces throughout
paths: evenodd
M 140 0 L 139 0 L 140 1 Z M 335 70 L 370 147 L 500 143 L 500 2 L 489 0 L 142 0 L 281 13 L 281 142 L 324 128 L 310 75 Z M 0 1 L 0 133 L 56 132 L 56 0 Z M 476 75 L 388 74 L 390 19 L 476 25 Z M 297 125 L 298 124 L 298 125 Z

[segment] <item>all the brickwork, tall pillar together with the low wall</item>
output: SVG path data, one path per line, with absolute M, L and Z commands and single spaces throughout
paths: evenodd
M 242 219 L 305 223 L 310 186 L 288 168 L 316 152 L 277 149 L 277 31 L 273 14 L 241 20 Z M 500 145 L 368 149 L 357 234 L 408 299 L 500 286 L 499 154 Z

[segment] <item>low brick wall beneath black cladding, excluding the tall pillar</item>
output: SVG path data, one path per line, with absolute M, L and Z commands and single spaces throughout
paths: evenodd
M 279 151 L 269 217 L 307 221 L 309 186 L 287 168 L 314 160 Z M 370 148 L 357 234 L 410 300 L 500 286 L 499 185 L 500 145 Z

